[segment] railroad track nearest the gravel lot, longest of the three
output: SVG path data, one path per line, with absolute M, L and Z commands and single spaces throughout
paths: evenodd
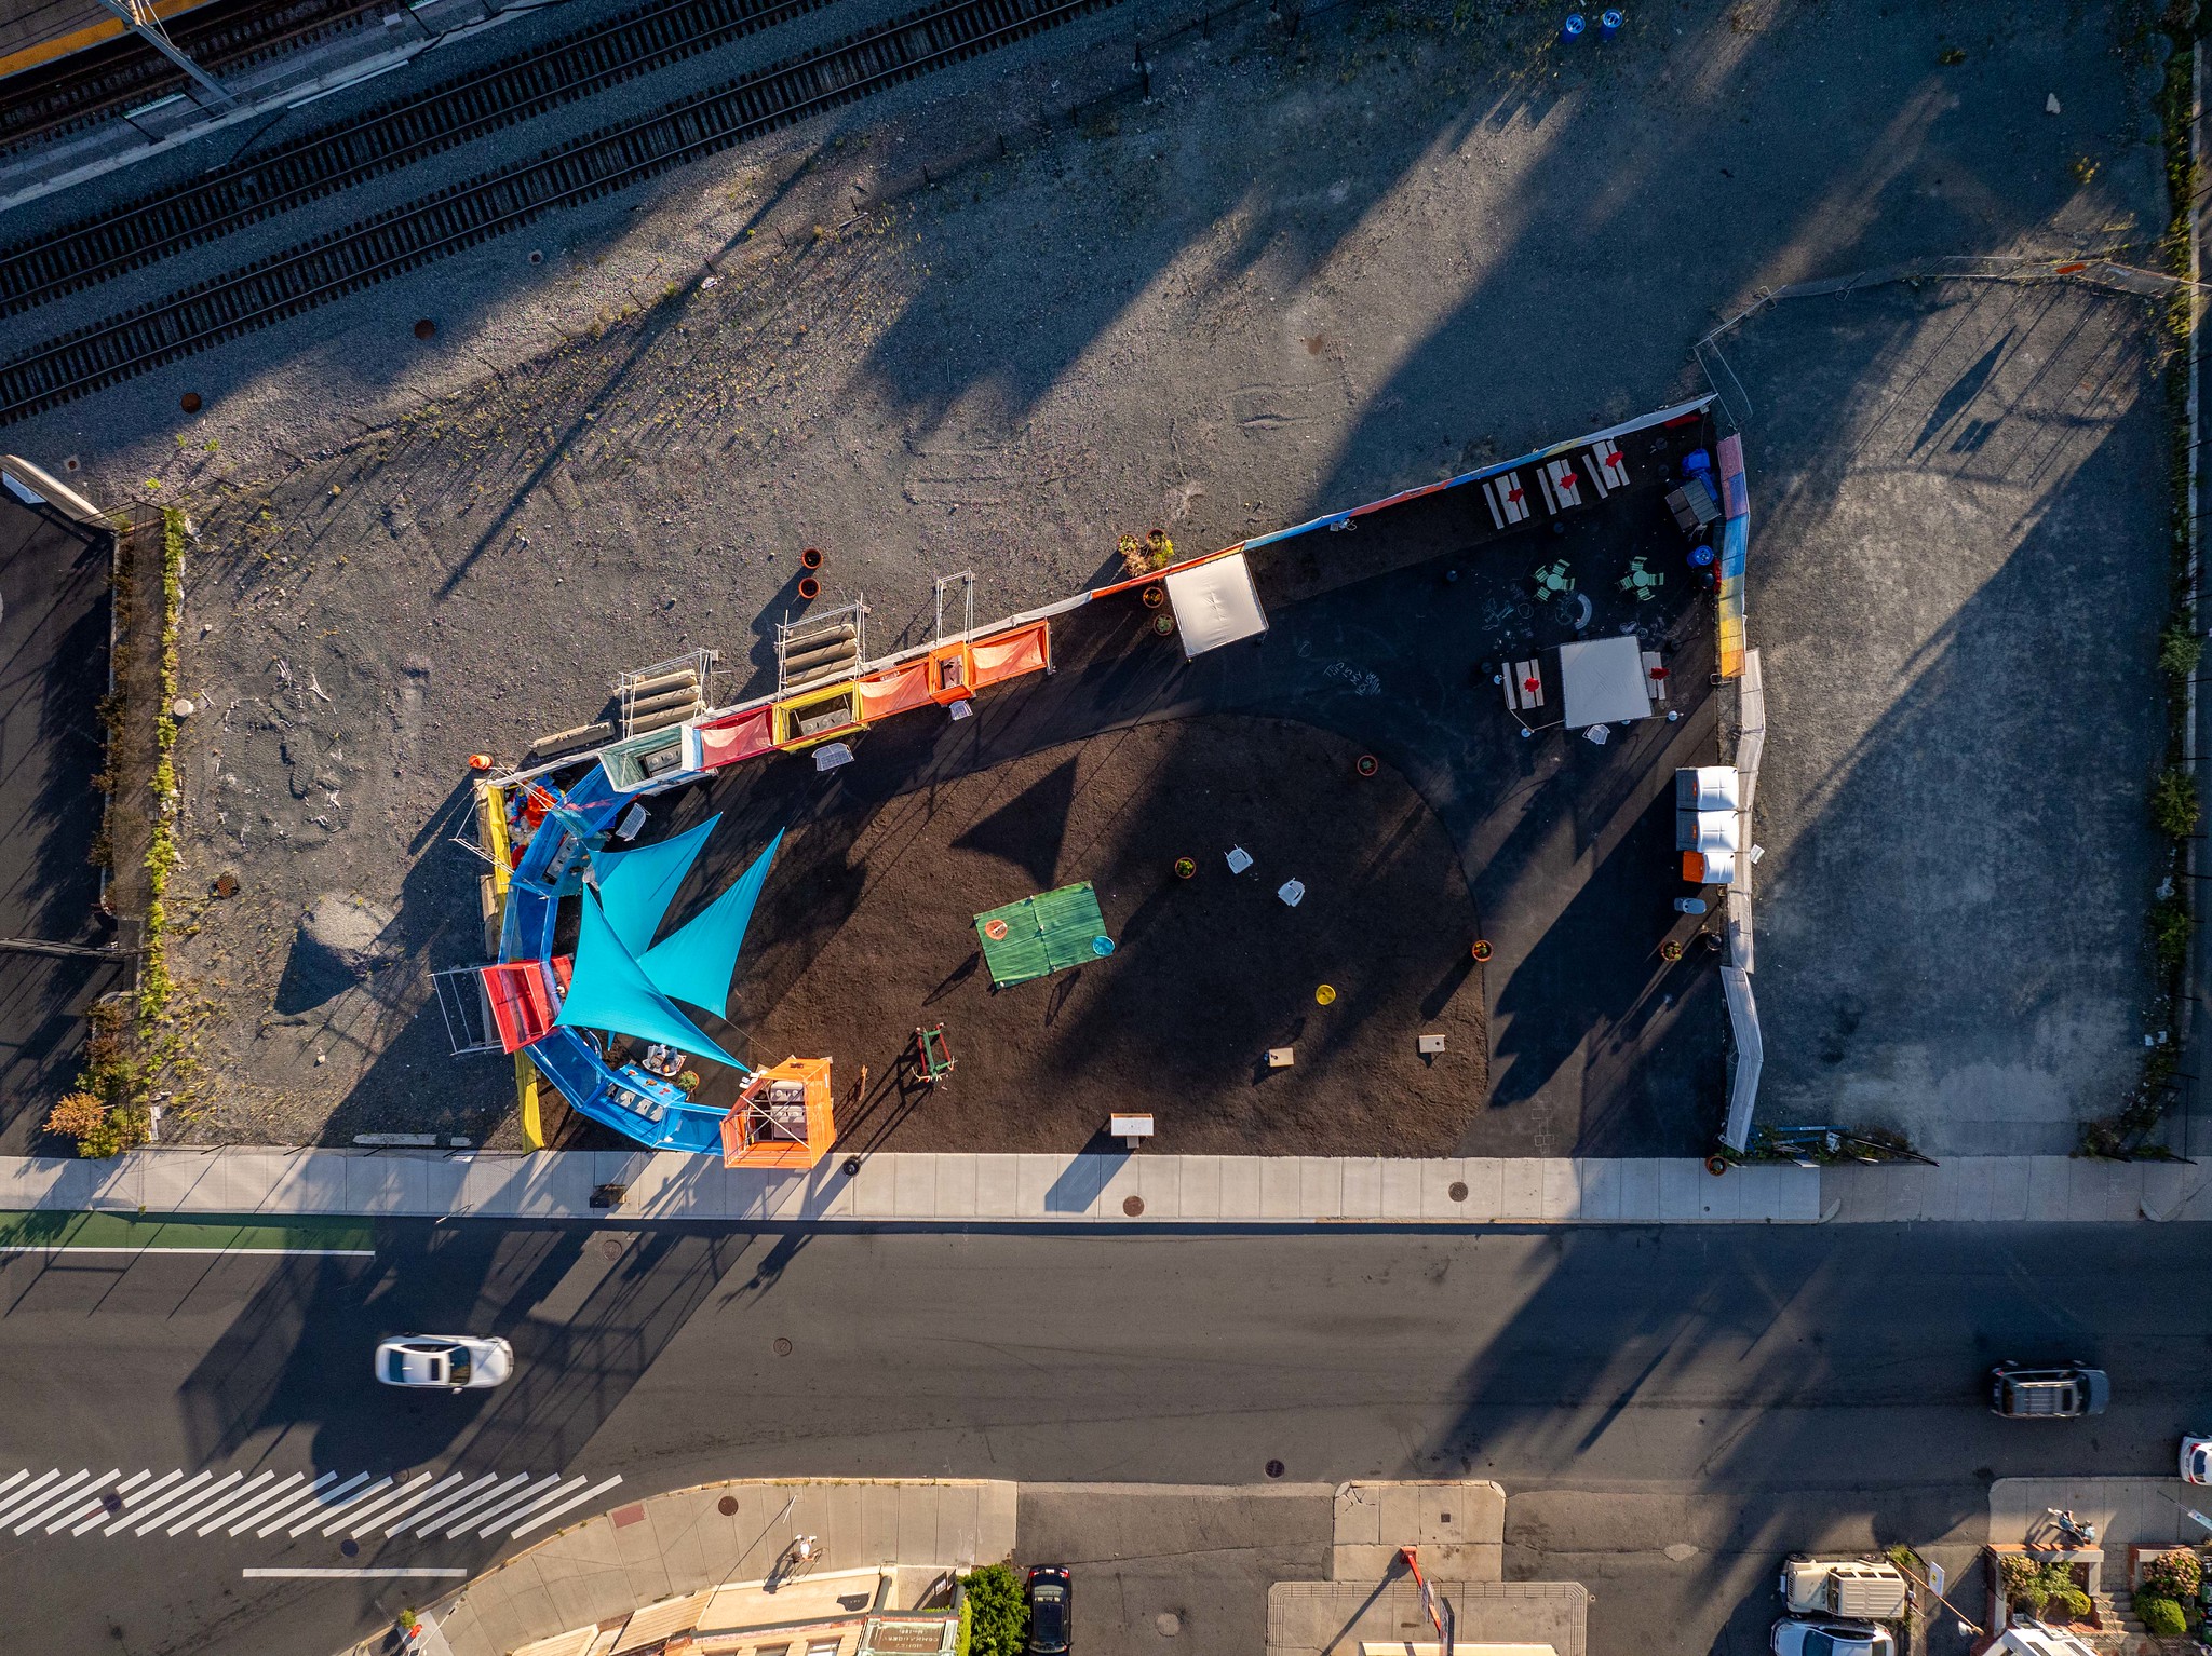
M 635 122 L 493 168 L 0 363 L 0 425 L 296 316 L 639 179 L 1115 0 L 947 0 Z

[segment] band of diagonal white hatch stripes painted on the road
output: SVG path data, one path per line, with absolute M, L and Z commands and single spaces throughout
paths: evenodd
M 0 1472 L 0 1530 L 71 1537 L 442 1537 L 520 1539 L 606 1495 L 568 1472 L 104 1472 L 86 1466 Z

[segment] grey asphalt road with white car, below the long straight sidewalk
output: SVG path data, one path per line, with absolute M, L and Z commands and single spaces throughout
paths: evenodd
M 2208 1256 L 2212 1229 L 2183 1225 L 1104 1238 L 407 1223 L 374 1260 L 15 1258 L 0 1265 L 0 1470 L 622 1472 L 608 1501 L 730 1475 L 1473 1472 L 1515 1499 L 1553 1490 L 1509 1534 L 1517 1574 L 1604 1576 L 1624 1548 L 1686 1537 L 1705 1563 L 1677 1572 L 1683 1607 L 1659 1643 L 1750 1656 L 1763 1618 L 1739 1585 L 1772 1552 L 1869 1528 L 1971 1541 L 1991 1477 L 2170 1466 L 2174 1435 L 2212 1413 L 2212 1304 L 2183 1287 Z M 453 1327 L 507 1333 L 520 1377 L 480 1397 L 369 1380 L 378 1335 Z M 2070 1355 L 2112 1371 L 2104 1419 L 1982 1408 L 1991 1362 Z M 495 1545 L 372 1539 L 352 1563 L 476 1568 Z M 0 1548 L 51 1649 L 338 1649 L 420 1592 L 239 1579 L 347 1563 L 312 1532 L 11 1530 Z M 1619 1599 L 1608 1636 L 1599 1596 L 1599 1652 L 1655 1643 Z

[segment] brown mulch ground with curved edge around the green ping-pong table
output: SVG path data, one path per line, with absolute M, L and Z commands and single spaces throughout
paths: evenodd
M 757 1061 L 830 1052 L 841 1094 L 867 1066 L 838 1114 L 856 1150 L 1079 1150 L 1113 1110 L 1150 1110 L 1172 1152 L 1451 1154 L 1486 1090 L 1473 904 L 1436 814 L 1356 758 L 1312 725 L 1221 714 L 814 814 L 732 1019 Z M 1292 876 L 1296 909 L 1276 898 Z M 1115 953 L 993 991 L 973 915 L 1075 880 Z M 960 1068 L 931 1090 L 905 1055 L 938 1021 Z M 1422 1059 L 1422 1033 L 1444 1055 Z M 1270 1070 L 1270 1046 L 1296 1063 Z

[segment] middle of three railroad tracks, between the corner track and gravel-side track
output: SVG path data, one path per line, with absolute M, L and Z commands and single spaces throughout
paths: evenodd
M 591 97 L 834 0 L 655 0 L 252 159 L 0 250 L 0 316 L 228 237 L 261 219 Z

